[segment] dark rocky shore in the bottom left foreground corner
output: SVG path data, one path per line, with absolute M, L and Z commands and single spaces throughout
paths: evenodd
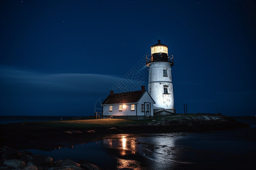
M 0 148 L 1 165 L 0 169 L 16 169 L 16 170 L 82 170 L 82 169 L 100 169 L 96 165 L 90 164 L 85 160 L 79 163 L 73 162 L 71 159 L 59 159 L 53 161 L 49 156 L 34 155 L 29 151 L 18 151 L 14 148 L 3 146 Z

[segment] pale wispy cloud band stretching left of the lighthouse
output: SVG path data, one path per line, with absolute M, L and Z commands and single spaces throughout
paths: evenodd
M 61 95 L 104 94 L 118 80 L 118 76 L 104 74 L 44 74 L 25 71 L 15 67 L 0 67 L 0 80 L 5 88 L 32 91 L 44 91 Z

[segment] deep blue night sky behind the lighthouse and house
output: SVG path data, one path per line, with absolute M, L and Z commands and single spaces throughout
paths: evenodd
M 177 113 L 254 116 L 255 30 L 254 1 L 3 0 L 0 114 L 92 115 L 120 83 L 147 88 L 144 56 L 160 37 Z

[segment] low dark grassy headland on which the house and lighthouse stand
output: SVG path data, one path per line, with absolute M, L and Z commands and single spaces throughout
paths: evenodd
M 249 127 L 222 114 L 188 114 L 150 120 L 70 120 L 0 125 L 1 146 L 52 150 L 98 141 L 110 134 L 202 132 Z

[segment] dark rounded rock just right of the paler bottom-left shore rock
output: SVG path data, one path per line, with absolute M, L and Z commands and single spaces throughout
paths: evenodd
M 49 167 L 52 165 L 52 158 L 49 156 L 43 155 L 34 155 L 28 158 L 28 162 L 32 162 L 35 165 L 42 166 L 42 167 Z

